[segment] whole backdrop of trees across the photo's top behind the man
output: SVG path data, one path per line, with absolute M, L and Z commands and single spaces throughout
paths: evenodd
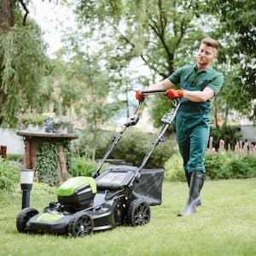
M 67 5 L 77 20 L 77 26 L 63 32 L 64 46 L 53 59 L 46 55 L 42 32 L 28 13 L 32 1 L 15 1 L 9 8 L 1 2 L 0 125 L 15 127 L 17 112 L 37 108 L 39 113 L 75 115 L 96 138 L 96 129 L 119 108 L 131 113 L 133 90 L 194 63 L 201 38 L 207 36 L 220 43 L 213 66 L 224 72 L 225 81 L 215 98 L 214 125 L 218 129 L 234 109 L 255 118 L 253 1 L 50 2 Z M 150 73 L 131 69 L 136 62 Z M 149 104 L 154 125 L 165 112 L 163 103 Z

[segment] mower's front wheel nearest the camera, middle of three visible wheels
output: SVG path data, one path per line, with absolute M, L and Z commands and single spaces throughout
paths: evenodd
M 79 212 L 67 224 L 67 232 L 71 236 L 86 236 L 90 235 L 93 230 L 93 220 L 86 212 Z

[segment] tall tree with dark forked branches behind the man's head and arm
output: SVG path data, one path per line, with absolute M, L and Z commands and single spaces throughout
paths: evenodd
M 131 89 L 166 79 L 176 67 L 193 60 L 201 38 L 212 32 L 207 31 L 207 22 L 195 19 L 200 16 L 195 1 L 78 1 L 76 11 L 82 26 L 101 34 L 102 60 L 116 91 L 126 90 L 123 78 L 131 61 L 140 59 L 151 70 L 139 74 Z

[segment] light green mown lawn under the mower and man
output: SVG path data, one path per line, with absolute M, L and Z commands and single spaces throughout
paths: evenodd
M 165 182 L 163 203 L 151 207 L 151 220 L 84 238 L 19 234 L 15 218 L 20 191 L 0 201 L 0 255 L 256 255 L 256 178 L 207 182 L 202 206 L 178 218 L 187 196 L 185 183 Z M 31 207 L 42 211 L 55 188 L 35 184 Z

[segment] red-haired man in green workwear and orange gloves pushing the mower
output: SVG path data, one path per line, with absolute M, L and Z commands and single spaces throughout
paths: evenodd
M 223 75 L 211 67 L 217 59 L 218 42 L 204 38 L 198 50 L 196 65 L 178 68 L 170 77 L 145 90 L 166 90 L 166 96 L 180 98 L 177 111 L 177 144 L 183 157 L 183 168 L 189 185 L 189 198 L 177 216 L 189 216 L 201 205 L 200 192 L 205 180 L 204 156 L 210 132 L 212 97 L 218 94 Z M 181 89 L 169 89 L 180 84 Z M 136 98 L 143 101 L 141 90 Z

